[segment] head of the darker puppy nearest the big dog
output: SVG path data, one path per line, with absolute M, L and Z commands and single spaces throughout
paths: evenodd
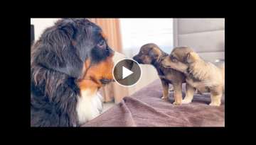
M 160 50 L 157 45 L 149 43 L 143 45 L 139 50 L 139 54 L 135 55 L 133 59 L 139 64 L 152 64 L 158 60 L 163 53 L 164 52 Z

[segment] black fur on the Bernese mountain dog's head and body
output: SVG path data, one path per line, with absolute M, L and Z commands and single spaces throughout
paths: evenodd
M 61 19 L 47 28 L 31 52 L 31 126 L 78 126 L 76 82 L 86 59 L 97 64 L 112 50 L 99 47 L 101 28 L 87 19 Z

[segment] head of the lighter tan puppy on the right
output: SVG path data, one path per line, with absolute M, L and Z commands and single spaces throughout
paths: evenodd
M 162 64 L 166 68 L 172 68 L 186 73 L 188 64 L 193 63 L 196 59 L 198 59 L 198 54 L 193 52 L 190 47 L 176 47 L 171 54 L 163 60 Z

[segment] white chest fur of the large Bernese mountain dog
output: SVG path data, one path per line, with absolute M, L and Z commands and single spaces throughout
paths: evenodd
M 102 112 L 102 99 L 102 95 L 98 92 L 81 91 L 81 96 L 78 96 L 77 104 L 79 124 L 84 124 L 100 115 Z

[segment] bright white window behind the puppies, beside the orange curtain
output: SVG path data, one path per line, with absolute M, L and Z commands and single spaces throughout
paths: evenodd
M 123 53 L 132 58 L 146 43 L 170 53 L 174 47 L 172 18 L 120 18 Z

